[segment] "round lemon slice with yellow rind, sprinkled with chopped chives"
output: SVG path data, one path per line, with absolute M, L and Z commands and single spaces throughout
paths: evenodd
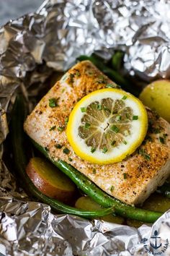
M 76 155 L 90 163 L 115 163 L 143 142 L 148 117 L 143 103 L 119 89 L 96 90 L 81 99 L 66 134 Z

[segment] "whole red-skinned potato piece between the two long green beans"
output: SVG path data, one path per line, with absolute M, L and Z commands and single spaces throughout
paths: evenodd
M 73 200 L 76 192 L 75 184 L 52 163 L 43 158 L 31 158 L 26 172 L 35 187 L 48 197 L 67 203 Z

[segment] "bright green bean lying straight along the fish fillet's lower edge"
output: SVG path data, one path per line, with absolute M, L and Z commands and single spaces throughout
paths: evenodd
M 98 202 L 99 205 L 102 205 L 103 207 L 114 207 L 117 215 L 137 221 L 153 223 L 159 217 L 161 217 L 162 213 L 125 205 L 119 200 L 116 200 L 114 197 L 107 195 L 107 193 L 103 192 L 102 189 L 99 189 L 99 187 L 84 176 L 84 174 L 77 171 L 76 168 L 73 168 L 73 166 L 64 161 L 55 161 L 53 158 L 50 158 L 50 155 L 45 148 L 42 148 L 42 146 L 38 145 L 33 140 L 32 142 L 35 147 L 40 150 L 55 166 L 70 177 L 77 187 L 79 187 L 86 195 L 89 195 L 89 197 L 91 197 L 94 201 Z

